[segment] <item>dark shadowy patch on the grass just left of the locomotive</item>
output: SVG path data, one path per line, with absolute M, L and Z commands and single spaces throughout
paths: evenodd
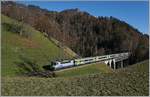
M 28 58 L 20 57 L 22 61 L 15 62 L 19 71 L 17 72 L 20 76 L 35 76 L 35 77 L 55 77 L 55 73 L 50 70 L 42 70 L 40 66 Z

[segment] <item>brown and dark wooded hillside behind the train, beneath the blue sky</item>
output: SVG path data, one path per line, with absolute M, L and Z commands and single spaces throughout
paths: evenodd
M 149 58 L 149 36 L 112 16 L 94 17 L 79 9 L 48 11 L 6 1 L 2 14 L 30 24 L 83 57 L 130 51 L 131 63 Z

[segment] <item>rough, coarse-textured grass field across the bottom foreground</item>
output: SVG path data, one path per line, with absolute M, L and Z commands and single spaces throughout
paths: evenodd
M 3 77 L 2 95 L 15 96 L 148 96 L 149 61 L 113 73 L 65 78 Z

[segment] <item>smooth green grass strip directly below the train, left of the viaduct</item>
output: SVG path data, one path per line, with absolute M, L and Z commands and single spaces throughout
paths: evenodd
M 112 69 L 104 63 L 87 64 L 78 67 L 56 71 L 57 77 L 72 77 L 96 73 L 110 73 Z

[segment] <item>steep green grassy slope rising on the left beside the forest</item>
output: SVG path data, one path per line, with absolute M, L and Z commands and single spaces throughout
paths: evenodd
M 50 63 L 51 60 L 60 58 L 62 50 L 49 41 L 39 31 L 21 24 L 7 16 L 1 16 L 2 21 L 2 76 L 15 76 L 24 72 L 18 65 L 23 61 L 22 57 L 34 62 L 39 69 Z M 23 25 L 29 38 L 20 36 L 10 30 L 12 25 Z M 64 56 L 65 57 L 65 56 Z

